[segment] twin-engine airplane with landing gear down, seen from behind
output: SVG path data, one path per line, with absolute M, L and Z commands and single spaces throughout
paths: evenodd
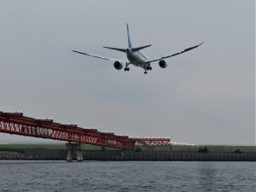
M 151 44 L 144 45 L 141 47 L 136 47 L 136 48 L 132 47 L 128 24 L 126 24 L 126 28 L 127 28 L 128 48 L 126 48 L 126 49 L 119 49 L 119 48 L 113 48 L 113 47 L 103 47 L 103 48 L 113 49 L 113 50 L 118 50 L 118 51 L 124 52 L 127 56 L 128 61 L 121 61 L 119 59 L 112 59 L 112 58 L 108 58 L 108 57 L 104 57 L 104 56 L 100 56 L 100 55 L 91 55 L 89 53 L 84 53 L 84 52 L 80 52 L 80 51 L 73 50 L 73 49 L 70 49 L 70 50 L 72 50 L 75 53 L 88 55 L 88 56 L 96 57 L 96 58 L 103 59 L 103 60 L 114 61 L 113 67 L 117 70 L 121 70 L 123 68 L 123 65 L 125 65 L 125 71 L 129 71 L 130 68 L 128 66 L 130 64 L 132 64 L 136 67 L 142 67 L 144 69 L 144 74 L 147 74 L 148 70 L 152 70 L 152 67 L 151 67 L 152 62 L 159 61 L 159 66 L 161 68 L 166 68 L 167 67 L 167 64 L 165 61 L 166 58 L 170 58 L 172 56 L 183 54 L 189 50 L 199 47 L 201 44 L 204 44 L 204 42 L 202 42 L 201 44 L 197 44 L 193 47 L 183 49 L 183 51 L 177 52 L 175 54 L 160 56 L 158 58 L 148 60 L 148 57 L 146 55 L 144 55 L 140 50 L 151 46 Z

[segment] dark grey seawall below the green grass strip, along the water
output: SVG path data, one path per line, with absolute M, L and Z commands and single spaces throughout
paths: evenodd
M 0 160 L 66 160 L 63 149 L 5 149 Z M 256 153 L 243 152 L 177 152 L 133 150 L 83 151 L 84 160 L 170 160 L 170 161 L 256 161 Z

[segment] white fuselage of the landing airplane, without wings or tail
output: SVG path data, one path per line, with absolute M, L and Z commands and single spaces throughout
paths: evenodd
M 136 66 L 136 67 L 149 67 L 148 63 L 145 63 L 145 61 L 147 61 L 147 56 L 143 55 L 142 52 L 140 52 L 139 50 L 136 52 L 133 52 L 131 49 L 126 49 L 126 56 L 127 59 L 131 62 L 132 65 Z

